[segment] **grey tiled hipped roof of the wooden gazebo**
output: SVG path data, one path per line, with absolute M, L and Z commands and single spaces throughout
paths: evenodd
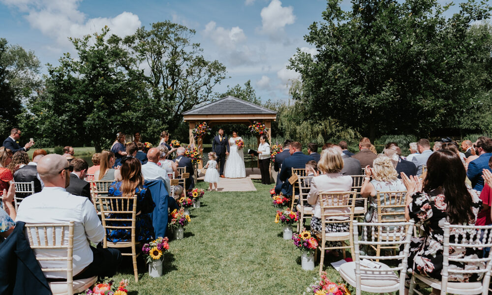
M 192 109 L 183 115 L 277 115 L 277 112 L 247 102 L 234 96 L 226 96 L 204 106 Z M 186 116 L 186 117 L 188 117 Z M 186 118 L 185 118 L 186 120 Z

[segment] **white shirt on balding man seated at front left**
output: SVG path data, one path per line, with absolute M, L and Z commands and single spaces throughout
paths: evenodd
M 16 221 L 24 221 L 27 224 L 67 223 L 72 220 L 75 221 L 73 275 L 76 275 L 92 263 L 93 255 L 89 241 L 98 243 L 104 238 L 104 228 L 88 198 L 72 195 L 62 187 L 45 187 L 41 192 L 22 201 L 16 218 Z M 52 231 L 48 229 L 47 232 L 48 243 L 51 245 Z M 68 236 L 68 228 L 63 236 L 65 238 Z M 56 230 L 56 237 L 61 237 L 60 229 Z M 40 236 L 40 239 L 42 238 Z M 34 249 L 34 253 L 37 257 L 66 257 L 66 249 Z M 66 267 L 66 261 L 45 261 L 40 264 L 41 267 Z M 66 278 L 66 271 L 49 271 L 46 277 Z

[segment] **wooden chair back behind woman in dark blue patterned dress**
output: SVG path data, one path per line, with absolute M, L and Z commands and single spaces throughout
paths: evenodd
M 99 207 L 101 210 L 101 222 L 104 227 L 105 235 L 103 247 L 108 245 L 107 229 L 129 231 L 131 243 L 135 244 L 135 220 L 137 216 L 137 195 L 131 198 L 125 197 L 99 197 Z M 116 218 L 118 217 L 118 218 Z M 126 225 L 128 221 L 131 226 Z

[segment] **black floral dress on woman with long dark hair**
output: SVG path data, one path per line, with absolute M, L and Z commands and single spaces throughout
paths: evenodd
M 472 210 L 475 218 L 468 225 L 474 225 L 478 210 L 482 204 L 475 190 L 468 190 L 472 197 Z M 446 202 L 443 194 L 436 190 L 430 194 L 417 192 L 412 195 L 412 202 L 408 205 L 410 218 L 415 220 L 416 227 L 424 230 L 421 237 L 412 237 L 408 267 L 415 273 L 429 276 L 433 279 L 442 278 L 444 222 L 447 220 Z M 451 232 L 453 234 L 453 232 Z M 450 236 L 450 242 L 454 242 L 454 235 Z M 449 255 L 454 258 L 478 259 L 482 251 L 478 248 L 454 248 L 450 247 Z M 449 262 L 453 269 L 464 269 L 464 265 L 457 262 Z M 468 263 L 467 270 L 485 268 L 485 263 Z M 474 282 L 481 278 L 476 273 L 449 274 L 449 281 Z

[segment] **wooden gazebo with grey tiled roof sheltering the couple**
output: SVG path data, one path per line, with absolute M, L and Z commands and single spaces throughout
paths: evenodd
M 195 143 L 192 130 L 196 124 L 207 122 L 209 126 L 220 123 L 251 124 L 261 121 L 268 128 L 268 138 L 272 138 L 272 121 L 277 118 L 277 112 L 247 102 L 234 96 L 226 96 L 209 104 L 183 113 L 184 121 L 189 123 L 189 143 L 202 149 L 202 140 Z

